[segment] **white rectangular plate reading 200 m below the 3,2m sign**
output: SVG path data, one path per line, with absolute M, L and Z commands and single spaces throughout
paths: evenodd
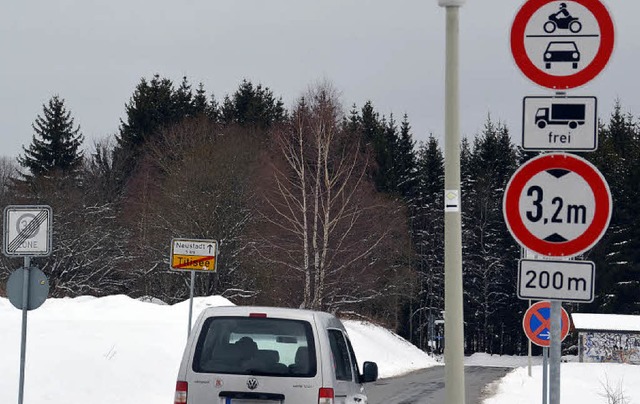
M 528 260 L 519 262 L 518 297 L 590 303 L 596 266 L 591 261 Z

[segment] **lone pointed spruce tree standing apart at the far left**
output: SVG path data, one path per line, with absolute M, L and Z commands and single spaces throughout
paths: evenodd
M 84 137 L 64 99 L 55 95 L 42 108 L 43 114 L 31 125 L 35 132 L 32 143 L 23 146 L 24 155 L 18 157 L 18 163 L 29 171 L 22 174 L 27 182 L 55 174 L 74 175 L 83 161 L 80 146 Z

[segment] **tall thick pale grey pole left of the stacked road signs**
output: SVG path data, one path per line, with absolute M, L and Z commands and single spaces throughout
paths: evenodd
M 460 195 L 459 21 L 465 0 L 438 0 L 446 8 L 445 194 Z M 446 198 L 445 198 L 446 200 Z M 445 209 L 445 397 L 464 404 L 464 321 L 462 306 L 462 225 L 460 205 Z

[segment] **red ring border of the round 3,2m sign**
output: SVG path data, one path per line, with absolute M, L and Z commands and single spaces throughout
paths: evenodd
M 581 176 L 591 187 L 595 199 L 595 212 L 589 227 L 580 236 L 563 243 L 545 241 L 531 233 L 519 209 L 526 183 L 534 175 L 556 168 Z M 612 205 L 609 185 L 595 166 L 572 154 L 552 153 L 529 160 L 513 174 L 505 190 L 502 209 L 509 231 L 524 248 L 545 256 L 572 257 L 593 247 L 604 235 L 611 220 Z

